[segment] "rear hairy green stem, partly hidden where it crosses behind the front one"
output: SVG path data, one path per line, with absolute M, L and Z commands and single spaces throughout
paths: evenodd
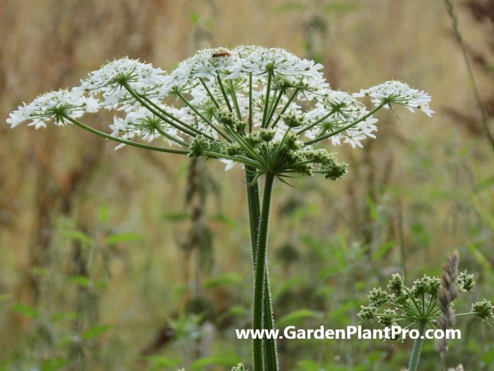
M 250 241 L 252 245 L 252 262 L 255 267 L 257 258 L 257 237 L 259 236 L 259 219 L 261 217 L 261 206 L 259 205 L 259 186 L 255 180 L 255 168 L 246 166 L 247 201 L 250 221 Z M 267 329 L 274 328 L 272 317 L 272 303 L 269 285 L 268 270 L 264 275 L 264 303 L 263 322 Z M 278 370 L 278 354 L 276 339 L 265 339 L 263 342 L 264 364 L 270 370 Z

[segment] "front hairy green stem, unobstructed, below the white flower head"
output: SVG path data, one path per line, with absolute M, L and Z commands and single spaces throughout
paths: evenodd
M 272 187 L 274 175 L 266 174 L 264 183 L 263 203 L 261 217 L 259 218 L 259 235 L 257 237 L 257 254 L 255 259 L 255 280 L 254 280 L 254 330 L 261 332 L 263 330 L 263 303 L 264 288 L 266 279 L 266 252 L 268 247 L 268 227 L 271 207 Z M 266 324 L 268 325 L 268 324 Z M 272 324 L 271 324 L 272 326 Z M 271 330 L 272 328 L 266 328 Z M 266 357 L 268 358 L 268 357 Z M 263 357 L 263 339 L 254 339 L 254 369 L 259 370 L 277 370 L 277 364 L 266 364 L 264 367 Z M 275 360 L 274 360 L 275 361 Z

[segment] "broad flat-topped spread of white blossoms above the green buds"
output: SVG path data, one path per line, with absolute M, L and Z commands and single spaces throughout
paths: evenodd
M 263 129 L 274 131 L 274 140 L 294 132 L 306 146 L 329 139 L 355 147 L 375 137 L 373 113 L 383 106 L 434 112 L 430 95 L 403 82 L 388 81 L 349 94 L 332 90 L 321 69 L 285 49 L 259 46 L 202 49 L 170 74 L 121 58 L 93 71 L 72 91 L 46 93 L 19 106 L 7 122 L 16 126 L 31 120 L 38 128 L 111 109 L 124 113 L 110 125 L 112 135 L 126 140 L 165 137 L 169 144 L 187 147 L 201 135 L 232 143 L 236 131 L 248 135 Z M 369 111 L 359 100 L 366 96 L 375 109 Z M 225 113 L 237 124 L 225 122 Z

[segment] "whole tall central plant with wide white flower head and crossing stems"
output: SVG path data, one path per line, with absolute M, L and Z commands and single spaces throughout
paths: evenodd
M 285 49 L 239 46 L 202 49 L 169 74 L 141 63 L 114 60 L 71 90 L 52 91 L 23 104 L 7 122 L 35 128 L 74 124 L 130 145 L 188 157 L 217 159 L 245 170 L 254 272 L 253 328 L 274 328 L 266 253 L 272 187 L 320 174 L 336 180 L 346 164 L 327 150 L 362 146 L 374 138 L 379 109 L 397 105 L 430 116 L 430 95 L 387 81 L 357 93 L 331 89 L 314 60 Z M 371 104 L 368 107 L 366 104 Z M 115 112 L 108 132 L 80 117 Z M 156 144 L 157 142 L 157 144 Z M 262 204 L 259 178 L 264 178 Z M 255 339 L 255 370 L 277 370 L 274 339 Z

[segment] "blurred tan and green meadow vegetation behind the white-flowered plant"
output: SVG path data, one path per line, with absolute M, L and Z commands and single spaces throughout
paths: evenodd
M 455 4 L 493 131 L 494 3 Z M 275 188 L 277 326 L 358 325 L 370 289 L 438 274 L 453 249 L 478 282 L 456 300 L 469 311 L 494 299 L 494 152 L 453 30 L 439 0 L 0 0 L 0 117 L 107 60 L 171 70 L 208 46 L 285 47 L 344 91 L 408 82 L 432 95 L 432 119 L 381 112 L 377 139 L 335 148 L 344 179 Z M 0 369 L 249 365 L 234 332 L 250 326 L 252 289 L 242 170 L 114 148 L 78 128 L 0 125 Z M 493 370 L 492 330 L 457 326 L 448 366 Z M 411 345 L 281 341 L 281 370 L 398 370 Z M 421 369 L 439 368 L 426 341 Z

